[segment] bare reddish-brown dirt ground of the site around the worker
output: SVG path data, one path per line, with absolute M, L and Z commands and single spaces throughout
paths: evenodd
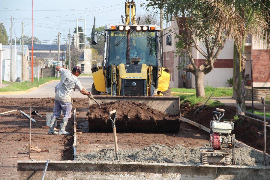
M 28 157 L 8 158 L 8 156 L 21 155 L 18 154 L 18 152 L 22 152 L 22 150 L 18 149 L 24 149 L 29 145 L 30 120 L 22 115 L 19 110 L 29 114 L 30 104 L 32 104 L 32 110 L 38 110 L 43 116 L 43 118 L 36 115 L 33 116 L 37 123 L 32 123 L 31 144 L 34 147 L 49 150 L 49 152 L 32 153 L 32 159 L 49 159 L 51 161 L 73 159 L 73 151 L 71 148 L 73 137 L 48 135 L 48 128 L 42 128 L 42 126 L 46 126 L 46 113 L 51 113 L 53 110 L 54 98 L 0 98 L 0 112 L 18 110 L 0 115 L 0 179 L 17 179 L 17 161 L 29 160 Z M 77 132 L 82 132 L 82 134 L 77 134 L 77 152 L 89 153 L 104 148 L 114 147 L 112 133 L 88 132 L 88 121 L 86 116 L 88 106 L 87 98 L 76 98 Z M 233 112 L 235 112 L 229 113 L 232 110 L 226 109 L 229 107 L 224 108 L 226 110 L 225 115 L 227 114 L 229 116 L 229 114 L 231 114 L 232 116 Z M 190 110 L 185 110 L 185 107 L 181 107 L 181 109 L 183 109 L 182 115 L 188 116 L 188 114 L 190 114 Z M 213 111 L 213 109 L 214 108 L 210 108 L 209 112 Z M 193 110 L 191 110 L 191 113 L 192 111 Z M 205 112 L 199 114 L 199 117 L 205 119 L 205 122 L 210 122 L 211 113 L 209 112 L 208 110 L 205 110 Z M 59 123 L 60 120 L 58 120 L 58 129 Z M 205 126 L 208 127 L 206 124 Z M 72 132 L 72 127 L 73 123 L 72 121 L 69 121 L 66 131 Z M 42 130 L 39 130 L 39 128 L 42 128 Z M 183 147 L 202 147 L 208 143 L 209 134 L 190 124 L 182 122 L 178 134 L 118 133 L 117 138 L 119 149 L 142 149 L 145 146 L 150 146 L 154 143 L 160 143 L 166 146 L 181 145 Z M 238 137 L 236 136 L 236 138 Z M 242 141 L 245 142 L 244 139 Z

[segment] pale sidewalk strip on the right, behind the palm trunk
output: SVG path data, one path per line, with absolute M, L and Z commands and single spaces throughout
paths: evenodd
M 231 97 L 217 97 L 217 98 L 211 98 L 212 100 L 220 101 L 221 103 L 225 104 L 226 106 L 234 106 L 235 99 L 232 99 Z M 245 101 L 246 106 L 252 106 L 252 101 Z M 261 101 L 253 101 L 254 107 L 257 108 L 259 111 L 263 110 L 262 102 Z M 265 104 L 265 112 L 270 112 L 270 105 Z

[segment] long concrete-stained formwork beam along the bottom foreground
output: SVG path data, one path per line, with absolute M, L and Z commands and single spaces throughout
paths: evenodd
M 18 161 L 18 179 L 41 179 L 46 161 Z M 268 179 L 270 167 L 50 161 L 45 179 Z

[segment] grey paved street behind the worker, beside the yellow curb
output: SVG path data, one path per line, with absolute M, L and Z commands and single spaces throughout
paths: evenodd
M 91 87 L 93 83 L 93 77 L 92 76 L 82 76 L 79 77 L 80 82 L 82 83 L 82 86 L 87 90 L 91 92 Z M 54 98 L 55 92 L 54 87 L 59 83 L 59 81 L 53 81 L 47 85 L 42 86 L 41 88 L 38 88 L 34 91 L 31 91 L 27 94 L 22 95 L 0 95 L 0 97 L 7 97 L 7 98 Z M 72 92 L 73 98 L 86 98 L 85 95 L 82 95 L 77 89 L 76 91 Z

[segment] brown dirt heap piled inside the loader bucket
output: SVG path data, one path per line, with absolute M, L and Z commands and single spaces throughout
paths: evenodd
M 89 116 L 93 119 L 102 119 L 103 116 L 107 117 L 108 113 L 112 110 L 116 110 L 117 118 L 119 119 L 168 119 L 176 118 L 177 116 L 164 114 L 161 111 L 155 110 L 152 107 L 147 106 L 144 103 L 134 102 L 134 101 L 114 101 L 109 103 L 101 104 L 101 109 L 99 109 L 97 104 L 91 105 L 89 110 Z

